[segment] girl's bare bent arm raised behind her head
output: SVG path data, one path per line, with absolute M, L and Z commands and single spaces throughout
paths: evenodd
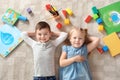
M 95 49 L 100 42 L 100 39 L 98 37 L 93 37 L 93 36 L 90 36 L 89 40 L 91 42 L 87 45 L 88 53 L 91 52 L 93 49 Z

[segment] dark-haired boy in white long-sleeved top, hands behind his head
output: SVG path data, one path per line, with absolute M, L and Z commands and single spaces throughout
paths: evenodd
M 58 37 L 50 40 L 53 35 Z M 34 36 L 36 40 L 31 38 Z M 67 38 L 67 33 L 51 32 L 49 24 L 41 21 L 36 25 L 35 32 L 22 32 L 22 38 L 33 50 L 34 80 L 56 80 L 54 53 L 56 47 Z

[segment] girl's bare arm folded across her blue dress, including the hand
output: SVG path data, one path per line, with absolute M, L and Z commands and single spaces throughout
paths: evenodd
M 85 58 L 83 56 L 77 55 L 71 58 L 67 59 L 67 54 L 66 52 L 62 52 L 61 57 L 60 57 L 60 66 L 65 67 L 68 66 L 74 62 L 82 62 L 84 61 Z

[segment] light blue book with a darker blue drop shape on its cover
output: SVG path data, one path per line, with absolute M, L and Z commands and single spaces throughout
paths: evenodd
M 21 42 L 21 32 L 15 26 L 0 27 L 0 55 L 8 56 Z

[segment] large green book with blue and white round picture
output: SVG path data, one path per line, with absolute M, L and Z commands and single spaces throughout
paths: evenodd
M 99 9 L 107 34 L 120 32 L 120 1 Z

